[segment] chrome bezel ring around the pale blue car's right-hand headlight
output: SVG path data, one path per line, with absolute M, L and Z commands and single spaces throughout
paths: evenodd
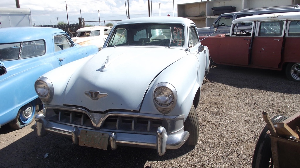
M 161 88 L 167 88 L 171 91 L 171 93 L 173 95 L 173 97 L 172 97 L 173 100 L 169 104 L 159 103 L 157 100 L 158 97 L 155 97 L 155 94 L 157 93 L 158 89 L 161 89 Z M 153 95 L 154 105 L 159 112 L 161 112 L 163 114 L 168 114 L 174 109 L 176 102 L 177 102 L 177 91 L 176 91 L 175 87 L 173 85 L 171 85 L 170 83 L 167 83 L 167 82 L 158 83 L 153 88 L 152 95 Z M 167 100 L 167 98 L 166 98 L 166 100 Z

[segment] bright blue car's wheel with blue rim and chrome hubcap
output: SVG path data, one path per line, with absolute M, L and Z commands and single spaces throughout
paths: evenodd
M 16 118 L 9 123 L 12 129 L 22 129 L 24 126 L 34 121 L 35 115 L 38 114 L 39 105 L 36 100 L 21 107 Z

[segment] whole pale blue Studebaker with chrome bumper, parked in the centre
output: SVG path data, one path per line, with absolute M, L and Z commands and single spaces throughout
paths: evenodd
M 48 132 L 99 149 L 196 145 L 195 108 L 209 71 L 208 48 L 186 18 L 146 17 L 114 25 L 102 50 L 42 75 L 35 89 Z

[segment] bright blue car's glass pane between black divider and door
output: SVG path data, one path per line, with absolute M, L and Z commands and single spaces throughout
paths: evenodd
M 23 42 L 21 50 L 21 59 L 40 56 L 45 54 L 44 40 Z

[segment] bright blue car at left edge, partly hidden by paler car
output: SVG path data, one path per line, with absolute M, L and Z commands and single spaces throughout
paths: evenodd
M 0 128 L 32 123 L 43 108 L 34 83 L 42 74 L 98 53 L 96 45 L 75 45 L 61 29 L 18 27 L 0 29 Z

